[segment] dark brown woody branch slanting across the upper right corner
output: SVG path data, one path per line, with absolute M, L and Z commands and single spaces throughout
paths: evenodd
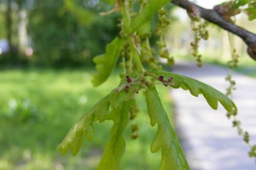
M 186 10 L 189 10 L 192 5 L 197 7 L 202 18 L 242 38 L 248 46 L 248 54 L 250 57 L 256 60 L 256 35 L 254 33 L 237 26 L 232 22 L 228 22 L 227 20 L 223 19 L 221 15 L 219 15 L 214 9 L 205 9 L 194 4 L 193 2 L 189 2 L 188 0 L 172 0 L 171 2 Z

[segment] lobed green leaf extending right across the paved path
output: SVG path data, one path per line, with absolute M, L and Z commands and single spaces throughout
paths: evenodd
M 173 82 L 177 83 L 176 85 L 172 85 L 173 88 L 182 87 L 184 90 L 188 89 L 191 95 L 195 97 L 198 97 L 199 94 L 203 94 L 208 104 L 214 110 L 217 110 L 218 108 L 218 101 L 228 112 L 234 112 L 234 110 L 237 110 L 236 105 L 230 98 L 203 82 L 184 75 L 161 71 L 158 69 L 152 70 L 152 73 L 156 75 L 163 75 L 164 77 L 173 77 Z

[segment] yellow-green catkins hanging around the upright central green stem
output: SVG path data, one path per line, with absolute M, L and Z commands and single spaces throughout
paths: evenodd
M 147 2 L 146 0 L 141 0 L 141 6 Z M 132 2 L 130 2 L 132 4 Z M 135 13 L 132 10 L 132 6 L 130 6 L 129 10 L 130 16 L 136 16 L 137 13 Z M 119 24 L 119 27 L 122 27 L 122 21 Z M 165 35 L 167 32 L 168 26 L 171 24 L 170 20 L 167 18 L 167 11 L 165 9 L 160 9 L 159 11 L 159 23 L 156 28 L 156 35 L 160 37 L 160 40 L 157 41 L 158 44 L 158 53 L 161 58 L 167 59 L 167 64 L 169 66 L 172 66 L 174 64 L 174 58 L 171 57 L 169 50 L 167 49 L 167 43 L 165 42 Z M 120 35 L 122 37 L 123 31 L 120 32 Z M 154 49 L 150 46 L 150 38 L 151 38 L 151 32 L 148 31 L 146 33 L 143 33 L 143 35 L 132 35 L 134 39 L 135 46 L 138 51 L 140 51 L 140 59 L 143 63 L 148 64 L 150 68 L 157 68 L 161 69 L 162 66 L 158 63 L 158 59 L 155 57 L 156 53 Z M 131 51 L 129 49 L 129 45 L 126 44 L 122 50 L 122 62 L 120 63 L 120 67 L 124 69 L 124 73 L 121 74 L 121 77 L 125 75 L 125 73 L 131 73 L 133 70 L 133 63 L 132 63 L 132 57 L 131 57 Z

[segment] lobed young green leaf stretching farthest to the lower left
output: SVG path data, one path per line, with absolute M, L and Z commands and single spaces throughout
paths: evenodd
M 135 78 L 136 79 L 136 78 Z M 126 79 L 122 79 L 118 88 L 125 85 Z M 109 118 L 109 107 L 115 110 L 122 105 L 123 102 L 129 101 L 138 89 L 138 85 L 133 84 L 129 91 L 125 89 L 119 92 L 114 89 L 104 99 L 96 103 L 89 111 L 87 111 L 81 119 L 79 119 L 70 128 L 69 133 L 58 146 L 58 151 L 62 155 L 67 154 L 68 149 L 72 155 L 76 155 L 82 146 L 83 135 L 88 141 L 92 141 L 94 137 L 93 123 L 95 121 L 104 122 Z M 112 112 L 111 112 L 112 113 Z

